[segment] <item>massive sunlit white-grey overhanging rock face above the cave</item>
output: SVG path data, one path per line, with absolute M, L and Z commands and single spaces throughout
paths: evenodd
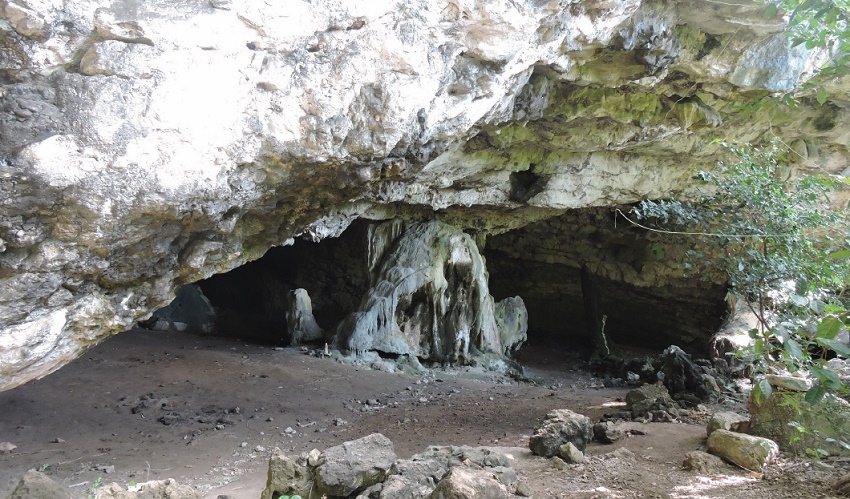
M 496 233 L 684 189 L 711 138 L 847 157 L 757 2 L 0 3 L 0 388 L 358 217 Z M 315 296 L 311 292 L 311 296 Z

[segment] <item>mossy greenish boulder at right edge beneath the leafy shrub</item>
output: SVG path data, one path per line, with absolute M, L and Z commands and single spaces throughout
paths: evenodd
M 827 394 L 812 406 L 805 401 L 803 391 L 808 383 L 800 378 L 773 376 L 768 381 L 774 387 L 770 397 L 762 396 L 756 401 L 755 396 L 750 394 L 751 433 L 776 441 L 787 452 L 805 454 L 807 449 L 822 449 L 831 455 L 850 455 L 850 451 L 839 443 L 827 440 L 848 440 L 850 403 Z M 795 389 L 789 390 L 788 387 Z M 790 425 L 792 422 L 806 431 Z

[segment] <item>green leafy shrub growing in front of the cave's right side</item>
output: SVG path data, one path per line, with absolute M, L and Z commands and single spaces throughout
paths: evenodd
M 782 364 L 816 379 L 806 401 L 817 403 L 844 386 L 825 367 L 822 352 L 850 357 L 837 340 L 850 317 L 844 289 L 850 283 L 846 213 L 829 209 L 840 182 L 832 177 L 787 178 L 775 144 L 726 144 L 733 161 L 699 172 L 693 199 L 644 201 L 633 213 L 692 244 L 683 266 L 721 272 L 730 292 L 750 305 L 758 328 L 750 332 L 750 361 L 757 372 Z M 656 229 L 658 230 L 658 229 Z M 770 396 L 767 382 L 755 396 Z

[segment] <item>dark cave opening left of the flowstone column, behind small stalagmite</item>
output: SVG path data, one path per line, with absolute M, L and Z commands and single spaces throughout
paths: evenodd
M 303 289 L 318 327 L 332 331 L 357 308 L 368 286 L 367 225 L 357 221 L 339 237 L 321 242 L 296 239 L 291 246 L 269 249 L 258 260 L 183 286 L 177 299 L 155 317 L 171 313 L 174 322 L 180 317 L 190 320 L 175 309 L 193 308 L 186 300 L 199 290 L 215 311 L 214 322 L 206 330 L 190 325 L 190 331 L 285 345 L 292 340 L 287 327 L 292 295 Z M 298 293 L 303 300 L 303 292 Z

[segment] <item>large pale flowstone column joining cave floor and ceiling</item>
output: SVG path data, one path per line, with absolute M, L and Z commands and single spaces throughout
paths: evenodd
M 370 231 L 373 238 L 395 240 L 369 241 L 378 251 L 369 255 L 372 285 L 337 329 L 336 347 L 450 364 L 519 348 L 526 339 L 525 305 L 510 298 L 495 313 L 484 258 L 472 237 L 438 221 L 404 230 L 398 224 Z

